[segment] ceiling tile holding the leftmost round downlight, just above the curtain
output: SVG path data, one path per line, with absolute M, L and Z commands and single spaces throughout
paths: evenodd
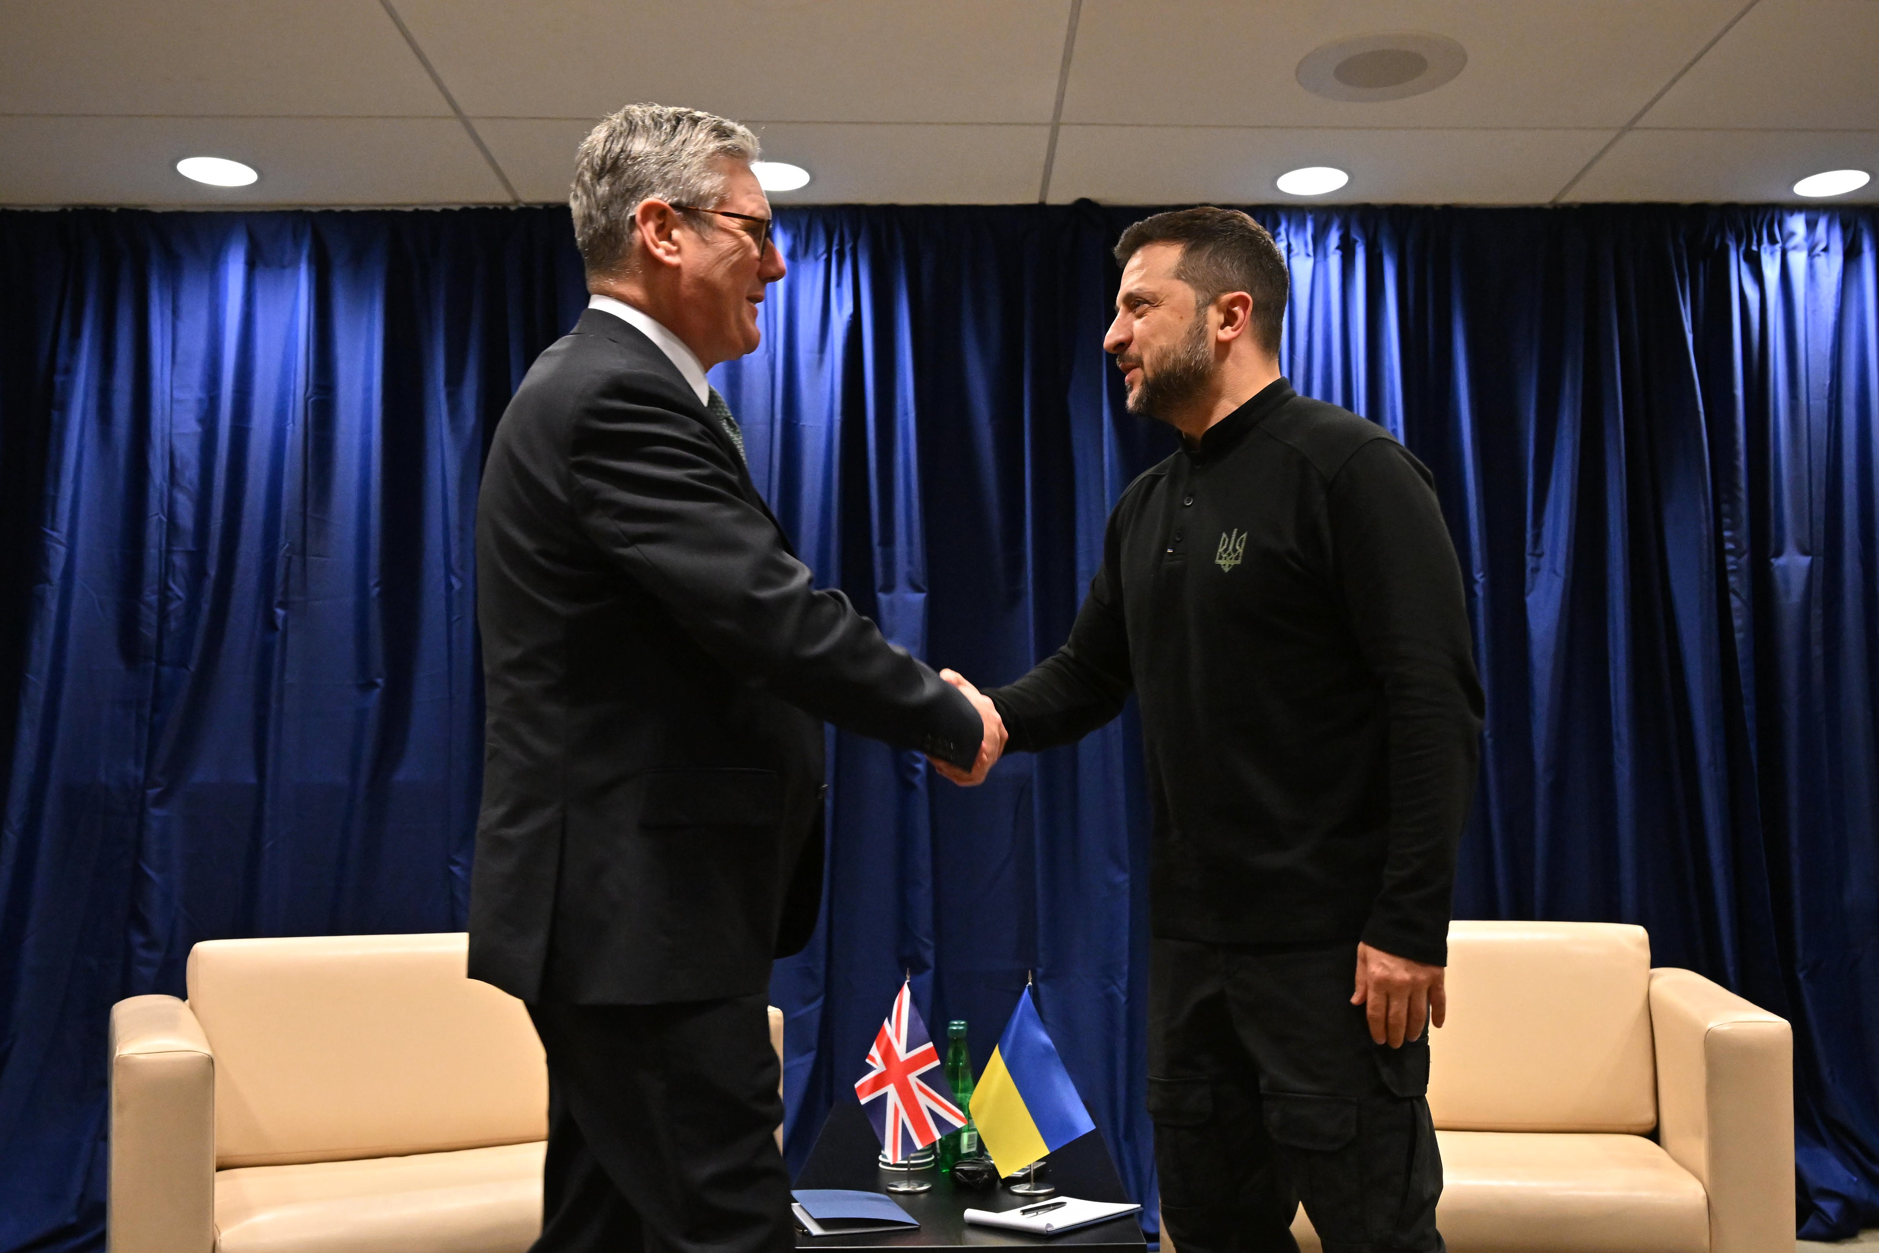
M 177 173 L 184 156 L 261 171 L 246 188 Z M 455 118 L 0 118 L 8 205 L 481 205 L 507 193 Z

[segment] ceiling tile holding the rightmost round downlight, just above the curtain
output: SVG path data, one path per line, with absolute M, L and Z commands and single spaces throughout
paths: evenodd
M 1849 167 L 1864 169 L 1875 178 L 1851 195 L 1794 195 L 1796 180 L 1823 169 Z M 1580 178 L 1571 199 L 1875 205 L 1879 130 L 1635 130 Z

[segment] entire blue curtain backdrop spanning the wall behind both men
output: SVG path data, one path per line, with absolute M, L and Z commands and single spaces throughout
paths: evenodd
M 1467 573 L 1458 915 L 1640 922 L 1789 1016 L 1802 1234 L 1879 1221 L 1879 212 L 1257 212 L 1289 376 L 1434 468 Z M 1056 648 L 1171 449 L 1099 348 L 1137 216 L 785 210 L 718 372 L 819 577 L 981 682 Z M 477 466 L 582 302 L 567 235 L 0 212 L 0 1249 L 98 1247 L 109 1005 L 194 941 L 462 924 Z M 981 1063 L 1033 975 L 1150 1197 L 1133 716 L 971 793 L 831 763 L 791 1159 L 906 973 Z

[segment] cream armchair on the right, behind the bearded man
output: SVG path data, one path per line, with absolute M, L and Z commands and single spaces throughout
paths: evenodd
M 1430 1112 L 1454 1253 L 1791 1253 L 1789 1026 L 1638 926 L 1456 922 Z M 1300 1210 L 1293 1234 L 1317 1253 Z

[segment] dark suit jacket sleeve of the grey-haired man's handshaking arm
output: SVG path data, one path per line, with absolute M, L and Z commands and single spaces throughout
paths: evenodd
M 985 735 L 971 703 L 814 586 L 703 426 L 601 387 L 575 417 L 569 473 L 588 537 L 725 669 L 838 727 L 971 768 Z

